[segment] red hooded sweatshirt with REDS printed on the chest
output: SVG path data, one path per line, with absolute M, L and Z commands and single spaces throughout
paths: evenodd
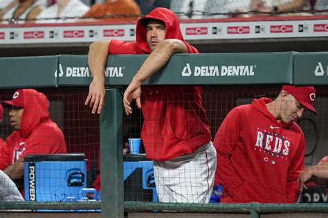
M 224 119 L 214 144 L 215 184 L 223 186 L 222 203 L 295 203 L 297 178 L 304 169 L 304 134 L 295 122 L 277 122 L 266 104 L 254 100 Z

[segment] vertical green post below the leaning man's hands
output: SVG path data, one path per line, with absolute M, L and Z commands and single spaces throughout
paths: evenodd
M 100 113 L 101 217 L 124 217 L 122 91 L 107 89 Z

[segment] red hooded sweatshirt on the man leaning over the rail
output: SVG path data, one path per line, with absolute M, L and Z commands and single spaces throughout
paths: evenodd
M 145 26 L 145 19 L 149 18 L 165 23 L 165 39 L 180 39 L 188 46 L 189 53 L 199 53 L 183 39 L 179 19 L 174 12 L 166 8 L 156 8 L 138 21 L 136 41 L 122 42 L 111 39 L 109 54 L 151 53 L 147 44 Z M 201 94 L 201 87 L 142 87 L 141 105 L 144 122 L 141 138 L 147 158 L 154 161 L 168 161 L 191 154 L 211 140 Z

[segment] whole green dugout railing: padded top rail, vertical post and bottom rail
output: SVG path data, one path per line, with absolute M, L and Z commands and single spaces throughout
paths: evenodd
M 107 62 L 106 84 L 122 87 L 129 84 L 146 55 L 111 56 Z M 325 89 L 328 84 L 328 53 L 244 53 L 174 55 L 170 62 L 145 84 L 311 84 Z M 126 64 L 129 63 L 129 64 Z M 91 81 L 85 55 L 17 57 L 0 59 L 1 89 L 28 87 L 88 86 Z M 29 73 L 22 73 L 29 72 Z M 177 73 L 176 73 L 177 72 Z M 173 78 L 173 79 L 172 79 Z M 124 210 L 175 210 L 179 212 L 249 213 L 257 217 L 264 212 L 327 212 L 325 204 L 309 205 L 188 205 L 123 202 L 122 199 L 122 91 L 107 91 L 106 107 L 100 116 L 102 172 L 102 215 L 122 217 Z M 108 103 L 109 102 L 109 103 Z M 110 135 L 109 135 L 110 134 Z M 110 140 L 109 140 L 110 138 Z M 110 184 L 110 185 L 107 185 Z M 109 188 L 111 186 L 111 188 Z M 100 208 L 99 202 L 77 203 L 2 203 L 1 208 Z M 108 206 L 107 206 L 108 205 Z

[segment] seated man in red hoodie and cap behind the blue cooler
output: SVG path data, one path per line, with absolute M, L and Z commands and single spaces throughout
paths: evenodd
M 11 107 L 10 122 L 14 129 L 1 154 L 0 170 L 10 179 L 24 175 L 27 154 L 63 154 L 66 143 L 62 130 L 50 118 L 49 101 L 35 89 L 18 89 L 12 100 L 3 101 Z

